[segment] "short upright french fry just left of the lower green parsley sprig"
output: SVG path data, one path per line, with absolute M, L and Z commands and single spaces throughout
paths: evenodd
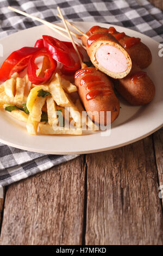
M 30 112 L 30 118 L 33 121 L 40 122 L 41 120 L 41 114 L 42 114 L 42 107 L 46 102 L 46 97 L 36 97 L 36 100 L 34 102 L 32 112 Z

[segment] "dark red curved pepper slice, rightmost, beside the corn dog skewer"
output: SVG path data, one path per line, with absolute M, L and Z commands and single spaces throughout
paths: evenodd
M 75 64 L 72 67 L 63 65 L 61 68 L 61 72 L 64 75 L 74 75 L 75 72 L 81 68 L 79 57 L 76 53 L 76 50 L 74 50 L 72 42 L 64 42 L 64 44 L 69 48 L 71 56 L 74 59 Z M 77 47 L 78 47 L 78 45 L 77 45 Z M 78 47 L 78 50 L 79 50 L 80 56 L 83 60 L 83 54 L 80 52 L 79 47 Z

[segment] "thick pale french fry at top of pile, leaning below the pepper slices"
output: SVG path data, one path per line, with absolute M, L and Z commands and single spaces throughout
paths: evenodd
M 58 73 L 55 74 L 52 82 L 49 84 L 49 92 L 57 105 L 61 107 L 70 106 L 70 101 L 67 99 L 64 89 L 61 87 L 60 76 Z

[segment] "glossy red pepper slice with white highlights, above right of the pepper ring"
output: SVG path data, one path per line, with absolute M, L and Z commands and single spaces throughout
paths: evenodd
M 74 66 L 74 60 L 71 57 L 70 50 L 64 42 L 53 38 L 53 36 L 42 35 L 44 47 L 51 53 L 53 59 L 66 66 Z

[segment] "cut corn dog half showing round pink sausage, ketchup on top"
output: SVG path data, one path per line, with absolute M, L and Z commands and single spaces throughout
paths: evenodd
M 87 54 L 92 64 L 106 75 L 123 78 L 131 70 L 131 59 L 126 50 L 108 33 L 97 33 L 87 39 Z

